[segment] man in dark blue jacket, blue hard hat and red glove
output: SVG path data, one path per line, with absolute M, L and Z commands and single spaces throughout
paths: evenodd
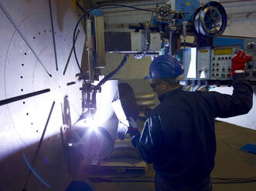
M 179 61 L 170 55 L 153 60 L 146 79 L 161 103 L 146 120 L 142 135 L 132 119 L 128 132 L 145 162 L 154 164 L 155 190 L 212 190 L 214 119 L 250 111 L 253 91 L 244 75 L 248 59 L 243 51 L 232 59 L 232 95 L 183 91 L 179 86 L 178 76 L 183 74 Z

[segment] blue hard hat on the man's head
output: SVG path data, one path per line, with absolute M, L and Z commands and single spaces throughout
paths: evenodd
M 168 79 L 183 74 L 179 60 L 171 55 L 159 55 L 149 66 L 149 74 L 144 79 Z

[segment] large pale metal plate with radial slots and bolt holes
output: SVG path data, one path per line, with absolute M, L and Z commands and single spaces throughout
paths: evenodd
M 22 190 L 25 184 L 27 190 L 47 190 L 44 182 L 53 190 L 63 190 L 69 179 L 60 126 L 63 126 L 61 108 L 66 95 L 71 123 L 81 112 L 80 83 L 67 85 L 76 81 L 79 72 L 73 55 L 69 59 L 77 13 L 70 1 L 50 2 L 52 21 L 46 1 L 1 1 L 0 22 L 5 26 L 0 28 L 0 139 L 4 142 L 0 145 L 0 188 L 3 190 Z M 80 60 L 85 35 L 81 26 L 79 29 L 76 49 Z M 63 75 L 67 61 L 69 65 Z M 55 106 L 44 132 L 53 102 Z M 32 173 L 26 183 L 31 169 L 36 174 Z

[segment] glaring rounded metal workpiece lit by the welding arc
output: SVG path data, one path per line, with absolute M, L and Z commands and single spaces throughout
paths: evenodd
M 96 112 L 85 111 L 84 117 L 73 124 L 73 129 L 80 135 L 77 146 L 81 155 L 96 165 L 106 159 L 114 148 L 118 132 L 118 118 L 112 106 L 118 98 L 118 80 L 108 80 L 96 95 Z M 122 112 L 122 110 L 118 110 Z

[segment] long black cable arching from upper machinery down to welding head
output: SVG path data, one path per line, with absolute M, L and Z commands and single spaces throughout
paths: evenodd
M 85 83 L 85 85 L 86 85 L 86 87 L 87 87 L 87 89 L 86 89 L 87 93 L 88 93 L 88 85 L 87 85 L 87 82 L 86 82 L 86 80 L 85 80 L 85 77 L 84 77 L 84 74 L 83 74 L 83 72 L 82 72 L 82 69 L 81 69 L 81 67 L 80 67 L 80 64 L 79 64 L 79 62 L 78 62 L 78 59 L 77 59 L 77 52 L 76 52 L 76 47 L 75 47 L 75 39 L 76 39 L 77 27 L 78 27 L 78 25 L 80 24 L 81 20 L 82 20 L 86 15 L 88 15 L 91 11 L 93 11 L 93 10 L 96 9 L 96 8 L 101 8 L 101 7 L 106 7 L 106 6 L 125 7 L 125 8 L 137 9 L 137 10 L 139 10 L 139 11 L 155 12 L 155 11 L 148 10 L 148 9 L 145 9 L 145 8 L 136 8 L 136 7 L 132 7 L 132 6 L 128 6 L 128 5 L 114 5 L 114 4 L 113 4 L 113 5 L 112 5 L 112 4 L 110 4 L 110 5 L 98 5 L 98 6 L 94 7 L 94 8 L 90 8 L 87 12 L 84 12 L 84 15 L 82 15 L 82 16 L 79 18 L 79 20 L 77 21 L 77 24 L 76 24 L 76 26 L 75 26 L 75 28 L 74 28 L 74 30 L 73 30 L 73 54 L 75 55 L 75 59 L 76 59 L 76 62 L 77 62 L 78 69 L 80 70 L 80 74 L 81 74 L 82 78 L 84 79 L 84 83 Z

